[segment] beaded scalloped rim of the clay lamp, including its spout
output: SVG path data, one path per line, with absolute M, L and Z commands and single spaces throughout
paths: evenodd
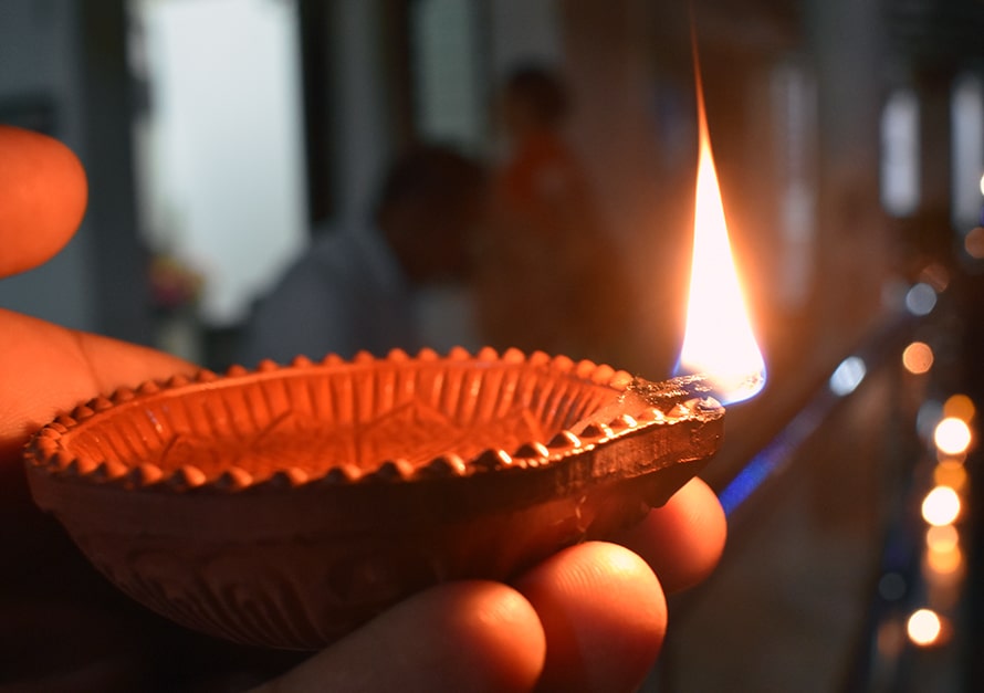
M 437 363 L 443 359 L 433 349 L 425 348 L 416 356 L 417 360 Z M 337 355 L 328 355 L 321 361 L 300 356 L 290 366 L 280 366 L 272 360 L 259 364 L 255 370 L 242 366 L 231 366 L 224 376 L 210 370 L 200 370 L 195 376 L 174 376 L 167 380 L 149 380 L 136 389 L 119 388 L 109 396 L 100 396 L 78 405 L 70 413 L 59 416 L 43 427 L 29 443 L 27 459 L 29 466 L 44 470 L 65 481 L 77 480 L 103 485 L 121 485 L 126 489 L 144 489 L 155 491 L 186 492 L 189 490 L 212 490 L 222 493 L 234 493 L 247 489 L 271 486 L 275 489 L 296 487 L 307 484 L 345 484 L 357 482 L 397 482 L 425 479 L 468 476 L 494 470 L 526 469 L 554 464 L 572 454 L 577 454 L 597 445 L 610 443 L 619 438 L 636 433 L 651 426 L 662 426 L 678 421 L 714 416 L 723 409 L 721 405 L 708 397 L 710 388 L 704 386 L 700 376 L 674 378 L 662 382 L 648 382 L 635 378 L 625 370 L 616 370 L 607 365 L 598 365 L 590 360 L 574 361 L 566 356 L 551 357 L 542 351 L 533 353 L 528 358 L 517 349 L 509 349 L 500 355 L 485 347 L 472 356 L 461 347 L 452 348 L 448 361 L 475 361 L 484 364 L 502 363 L 525 365 L 534 368 L 543 367 L 558 375 L 595 385 L 611 388 L 613 393 L 624 392 L 632 388 L 639 389 L 640 396 L 648 398 L 650 406 L 632 413 L 618 412 L 618 403 L 609 402 L 596 411 L 588 412 L 577 423 L 565 428 L 549 437 L 548 440 L 528 440 L 519 445 L 505 448 L 485 448 L 479 454 L 463 459 L 456 453 L 439 454 L 427 463 L 411 464 L 396 458 L 380 460 L 378 466 L 363 469 L 352 463 L 339 462 L 325 470 L 323 474 L 311 474 L 299 466 L 286 465 L 272 474 L 255 477 L 244 469 L 230 466 L 221 473 L 213 474 L 195 464 L 184 464 L 166 471 L 155 463 L 127 465 L 113 460 L 96 461 L 84 455 L 73 454 L 63 443 L 80 427 L 85 427 L 94 417 L 121 407 L 139 408 L 150 400 L 181 397 L 189 389 L 212 386 L 219 389 L 224 384 L 234 385 L 242 377 L 270 374 L 274 377 L 284 372 L 304 372 L 322 368 L 345 368 L 375 363 L 401 364 L 414 360 L 405 351 L 395 349 L 385 358 L 376 358 L 362 351 L 352 360 Z M 639 384 L 645 384 L 640 386 Z M 648 388 L 641 393 L 641 388 Z M 611 414 L 605 419 L 606 411 Z M 575 432 L 576 430 L 576 432 Z

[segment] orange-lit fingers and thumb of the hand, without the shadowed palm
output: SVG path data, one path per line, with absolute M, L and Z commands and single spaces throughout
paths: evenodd
M 0 276 L 61 250 L 82 219 L 86 191 L 66 147 L 0 126 Z M 28 438 L 77 402 L 196 370 L 153 349 L 9 311 L 0 309 L 0 334 L 4 466 L 20 465 Z M 716 497 L 694 480 L 618 543 L 567 548 L 511 585 L 433 587 L 257 691 L 631 691 L 663 641 L 664 590 L 706 577 L 724 537 Z

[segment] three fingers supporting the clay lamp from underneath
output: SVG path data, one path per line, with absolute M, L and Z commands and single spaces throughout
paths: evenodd
M 663 590 L 706 577 L 724 534 L 716 497 L 691 481 L 621 544 L 567 548 L 511 586 L 431 588 L 254 693 L 632 691 L 663 640 Z

